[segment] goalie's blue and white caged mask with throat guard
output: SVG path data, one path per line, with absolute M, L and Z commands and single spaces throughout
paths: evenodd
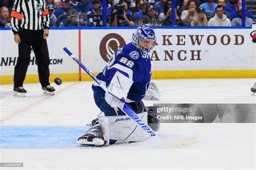
M 132 44 L 139 49 L 143 58 L 149 58 L 149 52 L 156 45 L 156 40 L 154 30 L 147 25 L 139 26 L 132 34 Z

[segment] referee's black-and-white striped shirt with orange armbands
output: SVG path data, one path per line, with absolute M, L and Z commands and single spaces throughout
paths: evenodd
M 19 29 L 50 29 L 50 17 L 45 0 L 15 0 L 11 11 L 11 29 L 14 34 Z

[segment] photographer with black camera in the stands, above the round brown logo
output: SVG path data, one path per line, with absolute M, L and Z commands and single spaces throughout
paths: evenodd
M 114 9 L 110 19 L 111 26 L 134 26 L 132 13 L 128 10 L 128 3 L 125 0 L 119 1 L 119 5 L 124 5 L 124 10 Z

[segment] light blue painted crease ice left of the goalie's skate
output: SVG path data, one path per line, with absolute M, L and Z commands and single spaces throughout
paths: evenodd
M 0 148 L 69 148 L 88 126 L 0 126 Z

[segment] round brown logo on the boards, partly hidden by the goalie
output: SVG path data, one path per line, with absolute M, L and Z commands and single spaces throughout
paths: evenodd
M 119 34 L 107 34 L 99 44 L 100 56 L 102 56 L 104 61 L 108 62 L 112 54 L 125 45 L 125 40 Z

